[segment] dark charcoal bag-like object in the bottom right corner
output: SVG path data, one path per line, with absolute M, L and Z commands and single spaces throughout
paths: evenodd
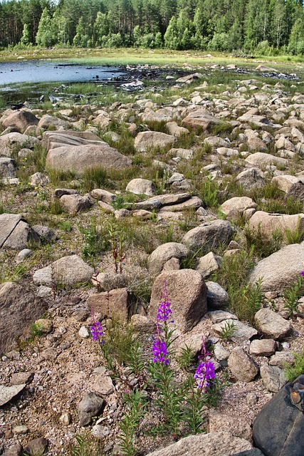
M 253 424 L 253 439 L 265 456 L 303 456 L 304 409 L 296 407 L 300 407 L 301 402 L 295 405 L 298 388 L 303 386 L 304 375 L 300 375 L 293 384 L 285 385 L 258 414 Z

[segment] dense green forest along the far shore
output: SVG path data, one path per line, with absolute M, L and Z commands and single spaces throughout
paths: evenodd
M 303 0 L 9 0 L 0 47 L 304 54 Z

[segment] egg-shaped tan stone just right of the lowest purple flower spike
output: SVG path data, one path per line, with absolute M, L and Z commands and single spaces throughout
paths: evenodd
M 232 375 L 241 382 L 251 382 L 258 374 L 258 366 L 241 347 L 236 347 L 232 351 L 228 358 L 228 367 Z

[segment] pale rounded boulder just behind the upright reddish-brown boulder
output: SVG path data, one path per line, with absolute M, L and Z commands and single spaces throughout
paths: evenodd
M 166 242 L 155 249 L 149 257 L 149 271 L 153 275 L 160 274 L 164 264 L 171 258 L 183 259 L 188 254 L 187 247 L 178 242 Z

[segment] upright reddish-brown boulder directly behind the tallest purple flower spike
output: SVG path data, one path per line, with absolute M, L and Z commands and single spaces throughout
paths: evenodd
M 162 272 L 154 281 L 150 301 L 150 318 L 155 321 L 164 282 L 171 299 L 174 326 L 187 332 L 206 314 L 207 287 L 199 272 L 193 269 Z

